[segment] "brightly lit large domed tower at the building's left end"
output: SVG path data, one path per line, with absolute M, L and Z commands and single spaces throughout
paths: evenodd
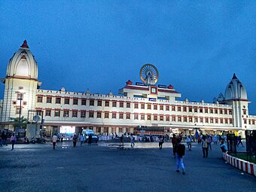
M 6 77 L 5 96 L 2 105 L 2 123 L 11 121 L 11 117 L 27 117 L 29 110 L 35 110 L 38 82 L 38 64 L 25 41 L 11 57 Z M 11 127 L 9 127 L 11 128 Z

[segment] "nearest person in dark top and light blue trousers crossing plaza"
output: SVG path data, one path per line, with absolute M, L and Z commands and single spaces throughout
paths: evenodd
M 185 167 L 183 163 L 183 157 L 185 154 L 185 145 L 181 144 L 181 140 L 177 139 L 177 145 L 176 145 L 176 172 L 179 172 L 179 167 L 181 166 L 182 174 L 185 174 Z

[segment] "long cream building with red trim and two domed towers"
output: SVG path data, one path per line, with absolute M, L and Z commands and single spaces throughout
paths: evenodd
M 172 85 L 157 85 L 158 72 L 151 65 L 142 66 L 142 83 L 126 85 L 115 96 L 41 90 L 38 81 L 38 65 L 26 41 L 8 63 L 5 96 L 1 101 L 2 128 L 14 130 L 11 120 L 26 117 L 41 117 L 42 130 L 48 134 L 62 128 L 73 127 L 74 132 L 93 129 L 96 133 L 134 133 L 143 127 L 163 127 L 169 132 L 221 133 L 232 131 L 242 134 L 244 130 L 256 130 L 256 116 L 248 113 L 245 87 L 233 75 L 224 95 L 220 94 L 213 103 L 184 101 Z M 35 120 L 35 119 L 34 119 Z M 142 128 L 142 129 L 138 129 Z

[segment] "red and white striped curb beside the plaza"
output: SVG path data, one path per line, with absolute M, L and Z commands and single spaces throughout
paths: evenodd
M 250 175 L 256 176 L 256 164 L 248 162 L 246 160 L 241 160 L 237 157 L 233 157 L 230 154 L 223 153 L 224 160 L 227 161 L 231 166 L 236 167 L 237 169 L 247 172 Z

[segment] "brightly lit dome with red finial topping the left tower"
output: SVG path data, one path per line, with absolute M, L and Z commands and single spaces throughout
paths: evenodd
M 38 64 L 25 41 L 10 59 L 6 78 L 29 78 L 38 80 Z

